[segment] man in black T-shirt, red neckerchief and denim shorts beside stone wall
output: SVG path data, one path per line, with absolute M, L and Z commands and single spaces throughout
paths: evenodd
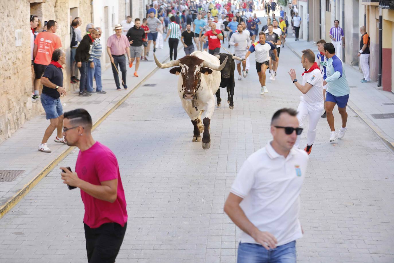
M 49 22 L 49 21 L 48 21 Z M 46 128 L 43 140 L 38 145 L 38 150 L 44 153 L 50 153 L 51 150 L 46 145 L 49 137 L 57 129 L 55 142 L 66 144 L 62 135 L 63 129 L 63 106 L 61 105 L 60 96 L 66 95 L 63 88 L 63 69 L 62 65 L 66 62 L 66 54 L 63 50 L 56 49 L 52 53 L 52 58 L 47 67 L 45 67 L 41 84 L 43 92 L 41 93 L 41 104 L 45 110 L 46 119 L 49 119 L 50 125 Z

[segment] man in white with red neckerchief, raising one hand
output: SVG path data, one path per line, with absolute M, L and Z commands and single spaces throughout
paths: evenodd
M 299 126 L 302 127 L 305 118 L 309 116 L 309 127 L 307 135 L 307 146 L 304 151 L 308 154 L 312 151 L 312 145 L 316 138 L 316 127 L 324 110 L 323 101 L 323 77 L 318 63 L 315 62 L 315 54 L 312 50 L 306 49 L 302 51 L 301 63 L 306 70 L 302 73 L 302 84 L 296 78 L 296 71 L 290 69 L 289 75 L 297 89 L 302 92 L 300 103 L 298 105 L 297 118 Z M 294 147 L 298 149 L 301 137 L 297 137 Z

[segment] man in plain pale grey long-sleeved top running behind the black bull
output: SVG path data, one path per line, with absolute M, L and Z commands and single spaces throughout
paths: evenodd
M 231 35 L 230 46 L 234 46 L 234 55 L 240 58 L 245 58 L 246 51 L 251 45 L 249 32 L 243 32 L 243 27 L 241 24 L 237 27 L 237 32 Z M 241 75 L 241 61 L 235 60 L 238 70 L 238 80 L 242 80 Z M 242 60 L 243 77 L 246 78 L 246 60 Z

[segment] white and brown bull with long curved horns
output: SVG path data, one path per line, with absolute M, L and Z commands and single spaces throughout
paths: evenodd
M 209 125 L 215 110 L 214 95 L 219 89 L 220 71 L 226 65 L 227 58 L 220 64 L 215 56 L 205 51 L 195 51 L 190 56 L 165 64 L 160 63 L 154 55 L 154 61 L 161 69 L 174 67 L 170 73 L 180 75 L 178 95 L 194 126 L 192 141 L 199 142 L 200 133 L 203 132 L 201 145 L 203 149 L 209 149 Z

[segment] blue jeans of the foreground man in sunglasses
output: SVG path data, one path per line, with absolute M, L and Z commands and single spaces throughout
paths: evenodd
M 259 244 L 240 243 L 237 263 L 296 263 L 296 241 L 270 250 Z

